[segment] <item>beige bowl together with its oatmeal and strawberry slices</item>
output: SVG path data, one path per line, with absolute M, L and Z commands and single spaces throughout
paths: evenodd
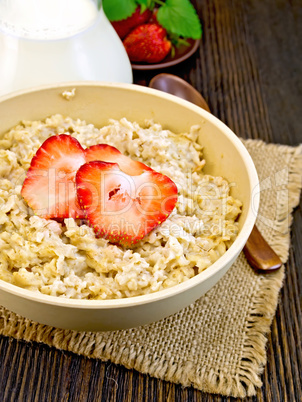
M 1 200 L 7 197 L 0 208 L 0 303 L 24 317 L 78 331 L 130 328 L 162 319 L 215 285 L 249 237 L 259 204 L 252 159 L 228 127 L 189 102 L 136 85 L 74 82 L 0 98 L 0 121 L 0 195 Z M 192 126 L 191 134 L 181 134 L 190 133 Z M 102 144 L 98 133 L 103 135 Z M 30 144 L 26 152 L 21 144 Z M 203 159 L 189 157 L 190 152 L 202 152 L 205 166 Z M 51 176 L 55 169 L 59 174 Z M 185 230 L 187 221 L 198 221 L 196 211 L 189 214 L 184 212 L 187 207 L 181 207 L 184 196 L 177 177 L 182 170 L 196 186 L 201 170 L 200 183 L 219 177 L 224 188 L 227 181 L 229 199 L 242 205 L 234 223 L 238 229 L 234 241 L 206 269 L 200 259 L 205 250 L 196 252 L 193 242 L 191 251 L 182 255 L 180 245 L 185 247 L 186 239 L 176 244 L 172 232 L 164 233 L 168 222 L 176 226 L 181 222 Z M 62 186 L 68 192 L 65 198 L 56 198 Z M 131 205 L 124 209 L 129 197 Z M 202 205 L 208 203 L 209 198 L 201 198 Z M 130 226 L 122 230 L 125 221 Z M 142 222 L 142 230 L 131 229 Z M 166 287 L 161 286 L 166 279 L 159 277 L 163 274 L 160 255 L 170 264 Z M 192 277 L 181 277 L 194 259 Z M 154 270 L 146 266 L 147 260 L 149 265 L 153 261 Z M 183 264 L 181 270 L 178 263 Z M 113 274 L 115 267 L 119 271 Z M 76 282 L 81 270 L 85 281 Z M 171 285 L 173 270 L 180 279 Z M 94 272 L 98 282 L 90 284 Z M 128 278 L 124 292 L 121 272 L 135 272 L 139 278 Z M 50 282 L 43 282 L 46 276 L 52 278 Z M 148 283 L 157 283 L 158 288 Z

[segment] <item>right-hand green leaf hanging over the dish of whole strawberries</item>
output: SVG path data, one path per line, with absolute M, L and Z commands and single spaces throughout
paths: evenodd
M 169 33 L 199 39 L 201 24 L 189 0 L 166 0 L 157 12 L 157 20 Z

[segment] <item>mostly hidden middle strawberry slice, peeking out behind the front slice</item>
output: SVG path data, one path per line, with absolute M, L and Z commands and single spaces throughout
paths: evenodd
M 130 176 L 137 176 L 146 170 L 152 170 L 142 162 L 134 161 L 123 155 L 118 149 L 108 144 L 93 145 L 85 149 L 86 162 L 103 161 L 117 163 L 120 169 Z

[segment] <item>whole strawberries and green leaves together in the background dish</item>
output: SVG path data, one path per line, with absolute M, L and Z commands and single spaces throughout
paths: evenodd
M 200 39 L 202 34 L 200 20 L 189 0 L 103 0 L 103 6 L 133 62 L 159 62 L 170 53 L 171 43 L 188 45 L 186 39 Z M 147 14 L 149 11 L 152 14 Z M 155 28 L 141 28 L 146 23 L 163 28 L 166 35 L 162 41 Z M 126 36 L 124 27 L 130 29 Z M 140 50 L 135 51 L 135 46 Z

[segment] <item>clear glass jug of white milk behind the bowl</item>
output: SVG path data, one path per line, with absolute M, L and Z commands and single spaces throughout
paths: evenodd
M 0 95 L 65 81 L 132 82 L 100 0 L 0 0 Z

